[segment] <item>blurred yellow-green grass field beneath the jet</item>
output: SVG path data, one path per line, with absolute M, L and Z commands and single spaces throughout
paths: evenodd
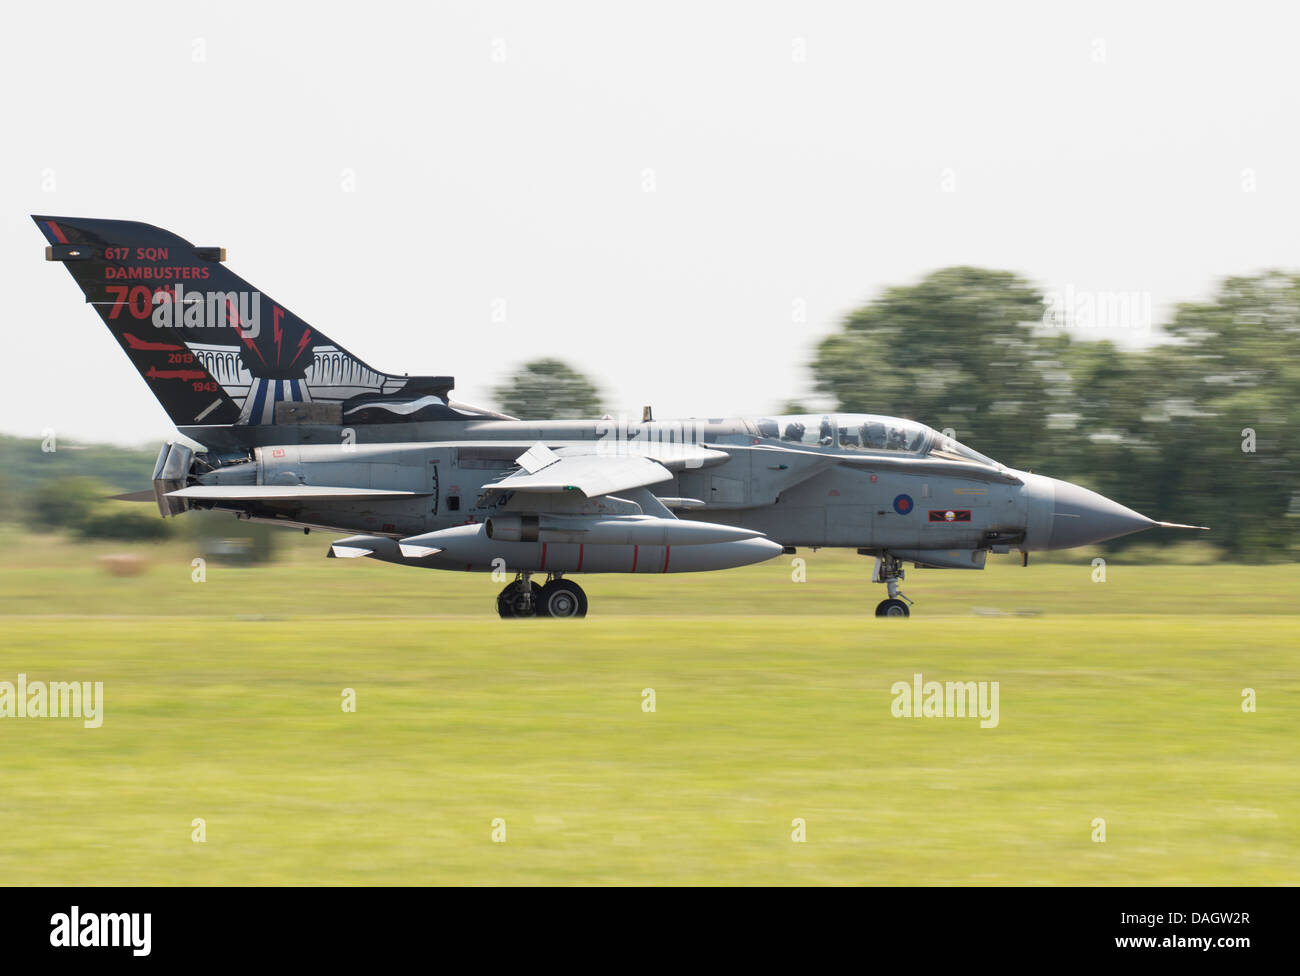
M 485 576 L 290 538 L 202 584 L 181 543 L 113 577 L 120 546 L 0 538 L 0 681 L 105 699 L 0 720 L 0 881 L 1300 881 L 1300 567 L 1002 558 L 876 620 L 868 560 L 801 552 L 502 621 Z M 997 728 L 893 717 L 918 672 L 997 681 Z

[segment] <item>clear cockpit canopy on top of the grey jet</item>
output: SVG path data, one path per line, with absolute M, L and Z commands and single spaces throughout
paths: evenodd
M 890 451 L 1001 467 L 993 459 L 933 428 L 900 417 L 879 417 L 872 413 L 794 413 L 785 417 L 758 417 L 753 424 L 762 438 L 807 447 Z

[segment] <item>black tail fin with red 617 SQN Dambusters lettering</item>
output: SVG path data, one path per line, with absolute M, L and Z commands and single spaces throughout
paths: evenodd
M 150 224 L 32 216 L 177 426 L 467 418 L 451 377 L 381 373 Z

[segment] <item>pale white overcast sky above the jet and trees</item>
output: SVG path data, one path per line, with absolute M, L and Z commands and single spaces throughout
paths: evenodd
M 656 417 L 806 398 L 820 337 L 944 265 L 1157 321 L 1300 266 L 1288 5 L 1061 6 L 10 4 L 0 430 L 170 431 L 29 213 L 225 246 L 458 399 L 559 356 Z

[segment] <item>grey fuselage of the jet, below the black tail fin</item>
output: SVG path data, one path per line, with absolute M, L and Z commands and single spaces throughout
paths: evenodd
M 220 444 L 212 444 L 213 431 L 186 433 L 208 442 L 213 455 L 221 452 Z M 692 572 L 744 565 L 775 554 L 772 547 L 763 550 L 745 541 L 705 546 L 682 541 L 670 551 L 671 541 L 582 546 L 573 541 L 581 535 L 552 533 L 547 538 L 545 529 L 532 541 L 500 534 L 493 539 L 486 532 L 494 519 L 502 522 L 534 512 L 573 519 L 650 516 L 655 512 L 646 509 L 660 499 L 679 520 L 750 529 L 777 547 L 890 551 L 905 560 L 970 569 L 982 568 L 989 551 L 1045 550 L 1062 547 L 1067 537 L 1069 545 L 1082 545 L 1095 541 L 1084 537 L 1123 534 L 1114 532 L 1121 528 L 1115 515 L 1128 512 L 1095 496 L 1096 512 L 1061 515 L 1082 520 L 1070 526 L 1072 534 L 1062 535 L 1054 508 L 1057 485 L 1063 482 L 966 461 L 849 451 L 833 443 L 788 443 L 763 437 L 748 420 L 430 422 L 342 430 L 304 424 L 243 433 L 265 443 L 254 447 L 247 460 L 199 476 L 200 483 L 347 485 L 411 494 L 304 503 L 221 502 L 212 507 L 390 539 L 393 546 L 381 546 L 370 555 L 442 569 L 486 572 L 500 569 L 498 560 L 504 560 L 516 572 Z M 672 465 L 670 480 L 650 486 L 653 499 L 640 502 L 636 491 L 624 493 L 633 498 L 590 499 L 581 493 L 488 491 L 536 443 L 563 452 L 590 451 L 593 442 L 598 452 L 654 455 L 666 446 L 685 444 L 705 447 L 712 456 Z M 1152 524 L 1131 515 L 1141 521 L 1124 525 L 1128 532 Z M 396 547 L 399 539 L 456 526 L 480 528 L 460 529 L 455 546 L 422 558 L 406 556 Z

